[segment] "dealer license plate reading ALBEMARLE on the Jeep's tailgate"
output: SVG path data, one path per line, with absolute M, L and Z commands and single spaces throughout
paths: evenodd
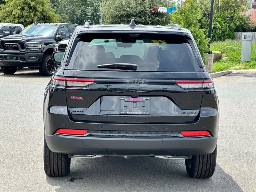
M 150 114 L 150 98 L 119 98 L 119 113 L 130 115 Z

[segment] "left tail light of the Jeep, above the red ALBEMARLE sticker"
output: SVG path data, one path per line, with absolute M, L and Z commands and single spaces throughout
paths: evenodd
M 70 88 L 84 88 L 94 83 L 94 79 L 81 79 L 81 78 L 65 78 L 56 77 L 52 78 L 52 85 Z

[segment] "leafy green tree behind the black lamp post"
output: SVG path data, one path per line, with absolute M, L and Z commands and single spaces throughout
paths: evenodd
M 218 0 L 214 5 L 211 41 L 234 38 L 234 30 L 252 30 L 255 25 L 251 22 L 250 15 L 246 15 L 248 3 L 246 0 Z M 199 19 L 200 27 L 209 30 L 211 0 L 199 0 L 198 8 L 202 17 Z

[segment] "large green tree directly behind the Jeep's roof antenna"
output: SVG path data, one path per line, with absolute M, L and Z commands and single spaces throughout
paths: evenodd
M 174 3 L 168 0 L 104 0 L 104 24 L 129 24 L 131 19 L 136 24 L 166 25 L 169 14 L 151 12 L 154 6 L 171 7 Z

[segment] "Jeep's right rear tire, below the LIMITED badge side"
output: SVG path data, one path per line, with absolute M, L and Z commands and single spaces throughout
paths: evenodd
M 216 155 L 217 146 L 211 154 L 193 155 L 192 159 L 185 159 L 188 175 L 193 178 L 211 177 L 215 171 Z

